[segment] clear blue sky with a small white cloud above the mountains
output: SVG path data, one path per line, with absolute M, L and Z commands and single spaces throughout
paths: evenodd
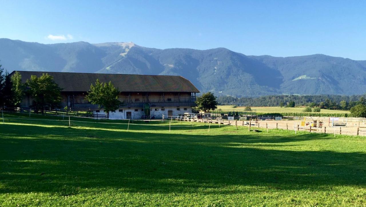
M 366 60 L 366 1 L 0 0 L 0 38 Z

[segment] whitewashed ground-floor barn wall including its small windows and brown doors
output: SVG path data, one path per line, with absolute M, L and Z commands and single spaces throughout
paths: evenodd
M 94 110 L 94 114 L 105 114 L 103 109 Z M 150 115 L 152 118 L 162 119 L 164 116 L 178 116 L 178 114 L 192 113 L 191 106 L 166 106 L 166 107 L 151 107 Z M 109 112 L 109 118 L 117 119 L 142 119 L 145 113 L 143 108 L 120 108 L 113 112 Z

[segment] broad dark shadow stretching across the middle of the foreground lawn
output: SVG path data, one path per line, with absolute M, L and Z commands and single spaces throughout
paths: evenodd
M 0 129 L 0 193 L 65 196 L 86 188 L 238 193 L 219 188 L 321 190 L 366 184 L 364 153 L 296 151 L 297 142 L 330 139 L 322 134 L 195 135 L 24 125 Z M 276 148 L 281 146 L 290 148 Z

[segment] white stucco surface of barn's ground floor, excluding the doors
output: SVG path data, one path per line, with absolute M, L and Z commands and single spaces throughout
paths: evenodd
M 177 110 L 178 107 L 171 107 L 171 106 L 166 106 L 164 107 L 164 111 L 161 110 L 161 107 L 152 107 L 150 108 L 150 114 L 151 117 L 155 117 L 157 119 L 161 119 L 163 118 L 163 114 L 164 116 L 168 116 L 168 111 L 172 110 L 173 111 L 173 116 L 178 116 L 178 114 L 183 114 L 183 113 L 192 113 L 192 108 L 191 106 L 180 106 L 180 110 Z M 184 110 L 184 108 L 187 108 L 187 110 Z M 119 112 L 119 109 L 122 109 L 123 112 Z M 116 110 L 116 112 L 109 112 L 109 118 L 117 118 L 117 119 L 126 119 L 126 112 L 131 112 L 132 114 L 132 119 L 141 119 L 141 116 L 144 115 L 144 112 L 141 110 L 142 108 L 119 108 Z M 135 109 L 138 109 L 137 112 L 135 112 Z M 155 109 L 158 109 L 157 111 Z M 103 109 L 100 109 L 100 112 L 96 112 L 94 111 L 94 114 L 105 114 Z

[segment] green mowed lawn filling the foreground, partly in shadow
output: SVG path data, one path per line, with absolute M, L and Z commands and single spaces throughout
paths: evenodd
M 4 118 L 0 206 L 366 205 L 365 137 Z

